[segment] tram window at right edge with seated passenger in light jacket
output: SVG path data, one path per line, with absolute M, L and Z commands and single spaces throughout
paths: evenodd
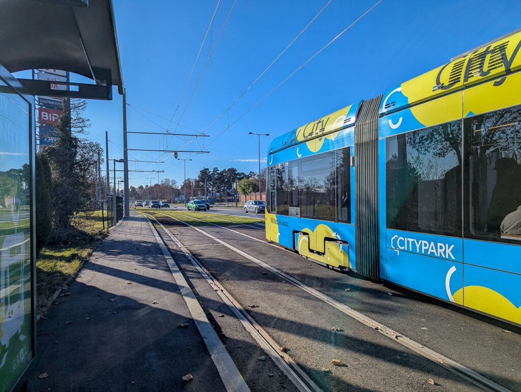
M 465 236 L 521 241 L 521 105 L 464 120 Z

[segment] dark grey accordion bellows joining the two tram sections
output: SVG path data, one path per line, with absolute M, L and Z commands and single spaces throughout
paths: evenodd
M 355 125 L 356 270 L 380 280 L 378 228 L 378 111 L 383 95 L 364 101 Z

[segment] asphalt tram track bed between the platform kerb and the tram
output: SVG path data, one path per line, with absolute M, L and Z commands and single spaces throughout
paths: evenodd
M 427 390 L 436 386 L 478 390 L 477 385 L 448 370 L 450 360 L 469 369 L 469 374 L 477 372 L 485 383 L 521 390 L 521 374 L 515 371 L 521 369 L 518 328 L 409 290 L 321 267 L 268 244 L 264 231 L 252 225 L 232 224 L 225 217 L 218 220 L 203 212 L 173 214 L 192 226 L 154 215 L 322 390 Z M 201 279 L 190 260 L 179 256 L 179 246 L 168 233 L 159 231 L 206 311 L 213 315 L 234 362 L 238 367 L 239 363 L 251 364 L 251 357 L 258 356 L 252 336 L 233 313 L 225 312 L 216 290 Z M 333 302 L 340 307 L 332 306 Z M 342 306 L 353 312 L 346 313 Z M 383 327 L 364 325 L 353 314 L 362 314 Z M 394 332 L 384 332 L 386 328 Z M 404 336 L 417 347 L 435 351 L 438 359 L 400 344 Z M 332 360 L 342 364 L 334 366 Z M 245 380 L 250 369 L 239 369 Z

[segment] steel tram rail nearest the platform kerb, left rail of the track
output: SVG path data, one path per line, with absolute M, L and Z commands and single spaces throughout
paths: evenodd
M 152 217 L 154 218 L 154 217 Z M 320 391 L 321 389 L 309 378 L 309 376 L 296 364 L 296 362 L 288 356 L 284 352 L 278 352 L 277 348 L 280 347 L 275 340 L 273 340 L 264 329 L 257 324 L 257 322 L 241 307 L 239 302 L 235 300 L 227 290 L 222 287 L 217 280 L 208 272 L 204 270 L 204 267 L 201 265 L 199 261 L 197 261 L 190 251 L 181 244 L 181 242 L 169 231 L 166 227 L 159 222 L 157 219 L 154 220 L 159 224 L 165 233 L 172 239 L 173 242 L 181 249 L 183 254 L 192 262 L 194 267 L 199 271 L 201 275 L 206 279 L 208 284 L 212 286 L 212 288 L 217 292 L 219 297 L 225 302 L 226 305 L 232 310 L 232 312 L 237 316 L 239 321 L 241 321 L 244 329 L 252 335 L 252 337 L 256 340 L 256 342 L 261 346 L 267 355 L 275 362 L 280 370 L 284 372 L 288 376 L 288 378 L 293 382 L 293 384 L 297 387 L 297 389 L 301 391 L 311 392 L 311 390 Z M 215 245 L 215 244 L 214 244 Z M 269 341 L 268 341 L 269 340 Z M 287 363 L 291 363 L 291 366 Z M 293 368 L 293 369 L 292 369 Z M 299 373 L 297 375 L 296 373 Z M 309 389 L 308 386 L 303 383 L 302 379 L 307 382 L 312 389 Z

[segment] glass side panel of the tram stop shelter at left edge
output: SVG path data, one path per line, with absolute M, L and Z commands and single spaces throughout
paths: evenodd
M 0 390 L 33 357 L 30 105 L 0 80 Z

